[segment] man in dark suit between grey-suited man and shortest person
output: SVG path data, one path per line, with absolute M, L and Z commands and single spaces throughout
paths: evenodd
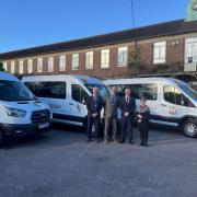
M 132 125 L 136 109 L 135 99 L 131 97 L 130 89 L 125 90 L 125 96 L 120 101 L 121 111 L 121 139 L 120 143 L 125 143 L 126 129 L 129 131 L 129 143 L 132 144 Z

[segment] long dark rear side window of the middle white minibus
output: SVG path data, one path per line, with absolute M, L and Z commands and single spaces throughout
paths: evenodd
M 66 99 L 66 82 L 25 82 L 37 97 Z

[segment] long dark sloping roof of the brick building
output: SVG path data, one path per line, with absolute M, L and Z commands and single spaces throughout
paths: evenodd
M 140 40 L 169 35 L 178 35 L 193 32 L 197 32 L 197 21 L 185 22 L 184 20 L 177 20 L 81 39 L 3 53 L 0 54 L 0 59 L 13 59 L 27 56 L 79 50 L 83 48 L 92 48 L 131 40 Z

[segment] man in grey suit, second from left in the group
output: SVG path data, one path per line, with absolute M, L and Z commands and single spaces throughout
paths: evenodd
M 112 86 L 111 93 L 106 95 L 104 101 L 104 108 L 105 108 L 104 137 L 106 142 L 109 142 L 111 140 L 116 141 L 118 107 L 119 107 L 119 96 L 116 95 L 116 86 Z M 112 136 L 109 135 L 109 129 L 112 129 L 111 132 Z

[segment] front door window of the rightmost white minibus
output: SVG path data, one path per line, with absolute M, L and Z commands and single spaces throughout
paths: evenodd
M 178 89 L 170 85 L 164 86 L 164 100 L 166 102 L 173 103 L 175 105 L 194 107 L 194 104 L 179 92 Z

